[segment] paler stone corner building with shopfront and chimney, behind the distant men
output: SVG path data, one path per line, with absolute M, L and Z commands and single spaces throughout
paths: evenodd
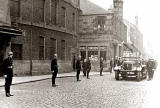
M 123 23 L 123 1 L 114 0 L 114 8 L 105 10 L 88 0 L 81 0 L 79 48 L 83 58 L 103 57 L 110 60 L 122 56 L 122 43 L 127 42 Z

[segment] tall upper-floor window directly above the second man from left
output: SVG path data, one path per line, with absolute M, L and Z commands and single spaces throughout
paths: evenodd
M 57 0 L 51 1 L 51 23 L 56 24 Z

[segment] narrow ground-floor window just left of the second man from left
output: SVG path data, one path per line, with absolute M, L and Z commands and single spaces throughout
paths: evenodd
M 39 59 L 40 60 L 45 59 L 45 38 L 44 37 L 39 38 Z

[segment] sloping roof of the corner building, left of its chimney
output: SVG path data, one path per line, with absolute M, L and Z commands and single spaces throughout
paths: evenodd
M 80 0 L 80 9 L 82 10 L 83 15 L 108 13 L 107 10 L 90 2 L 89 0 Z

